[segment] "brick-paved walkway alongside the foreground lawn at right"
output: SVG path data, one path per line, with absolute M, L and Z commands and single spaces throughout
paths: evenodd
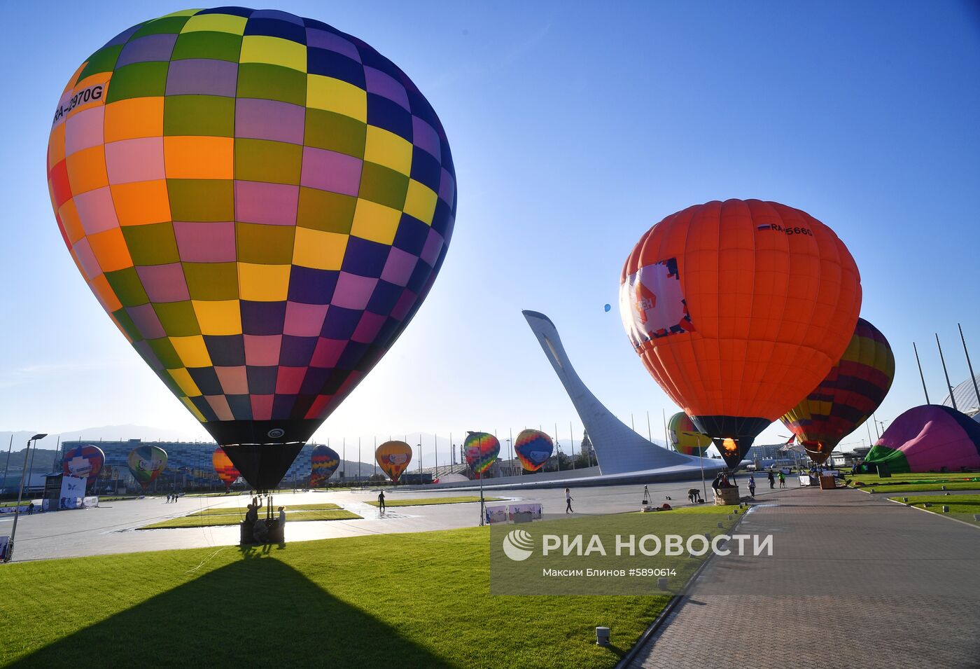
M 773 557 L 712 558 L 631 669 L 980 667 L 980 529 L 857 490 L 757 501 L 738 532 Z

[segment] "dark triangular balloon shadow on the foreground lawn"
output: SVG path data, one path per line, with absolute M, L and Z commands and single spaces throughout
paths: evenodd
M 51 643 L 16 667 L 449 667 L 262 551 Z M 83 580 L 83 574 L 79 575 Z M 120 575 L 120 587 L 125 578 Z M 79 591 L 78 606 L 85 606 Z M 58 615 L 39 625 L 57 625 Z

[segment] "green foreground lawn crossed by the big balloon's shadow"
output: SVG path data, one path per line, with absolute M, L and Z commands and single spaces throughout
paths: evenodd
M 3 565 L 0 665 L 609 668 L 669 599 L 491 596 L 488 530 Z

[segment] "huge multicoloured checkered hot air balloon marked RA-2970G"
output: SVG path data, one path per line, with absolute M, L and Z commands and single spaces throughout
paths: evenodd
M 124 30 L 69 80 L 47 167 L 85 281 L 257 489 L 411 321 L 456 215 L 416 84 L 280 11 Z

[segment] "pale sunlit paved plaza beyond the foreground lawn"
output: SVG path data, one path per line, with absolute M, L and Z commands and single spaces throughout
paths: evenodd
M 795 485 L 793 482 L 787 482 Z M 701 488 L 701 482 L 673 482 L 651 485 L 651 500 L 662 504 L 670 497 L 673 505 L 687 503 L 687 489 Z M 711 492 L 711 489 L 708 489 Z M 573 489 L 572 508 L 579 515 L 620 513 L 639 509 L 642 486 L 617 486 Z M 478 496 L 474 490 L 399 492 L 385 489 L 389 501 L 399 497 L 425 498 L 439 496 Z M 507 489 L 493 490 L 487 497 L 503 497 L 514 501 L 540 502 L 545 513 L 564 512 L 564 489 Z M 472 527 L 479 524 L 477 503 L 441 504 L 431 506 L 393 507 L 383 515 L 367 502 L 377 498 L 376 489 L 310 491 L 280 493 L 274 505 L 316 504 L 331 502 L 348 509 L 360 520 L 310 521 L 287 523 L 287 541 L 307 541 L 357 537 L 372 534 L 429 532 Z M 75 509 L 54 513 L 22 515 L 17 527 L 17 547 L 14 560 L 40 560 L 56 557 L 105 555 L 143 550 L 200 548 L 234 545 L 239 540 L 235 525 L 224 527 L 181 528 L 168 530 L 136 530 L 151 523 L 178 518 L 205 509 L 241 507 L 249 497 L 235 494 L 219 497 L 180 497 L 175 503 L 165 503 L 161 497 L 109 501 L 93 509 Z M 506 502 L 501 502 L 506 503 Z M 13 516 L 0 516 L 0 535 L 10 533 Z

